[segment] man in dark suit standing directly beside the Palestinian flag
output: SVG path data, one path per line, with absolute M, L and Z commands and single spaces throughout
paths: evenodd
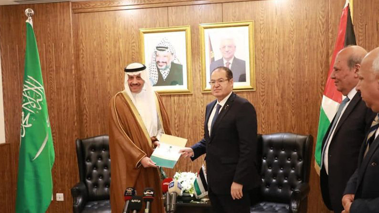
M 364 135 L 375 117 L 355 89 L 366 53 L 359 46 L 342 49 L 330 76 L 344 97 L 323 140 L 320 186 L 325 205 L 335 213 L 344 209 L 341 199 L 347 180 L 357 168 Z

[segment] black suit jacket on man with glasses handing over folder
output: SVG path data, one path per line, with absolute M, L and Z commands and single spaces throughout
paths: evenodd
M 211 136 L 208 120 L 216 100 L 207 105 L 204 138 L 195 144 L 194 157 L 206 153 L 208 187 L 214 194 L 230 194 L 232 182 L 243 190 L 261 182 L 256 167 L 257 116 L 245 98 L 232 93 L 214 122 Z

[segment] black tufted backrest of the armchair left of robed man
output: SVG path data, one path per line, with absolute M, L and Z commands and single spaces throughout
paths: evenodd
M 80 181 L 88 190 L 88 200 L 109 200 L 111 158 L 108 135 L 77 139 L 76 152 Z

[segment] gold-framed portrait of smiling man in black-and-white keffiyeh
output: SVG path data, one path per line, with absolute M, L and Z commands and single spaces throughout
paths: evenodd
M 160 94 L 191 94 L 190 26 L 139 29 L 141 61 Z

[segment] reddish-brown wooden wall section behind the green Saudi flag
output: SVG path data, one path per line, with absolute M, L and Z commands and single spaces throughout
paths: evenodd
M 78 137 L 71 5 L 64 3 L 0 7 L 0 48 L 4 96 L 6 142 L 10 144 L 12 206 L 14 212 L 18 164 L 21 94 L 25 55 L 24 10 L 33 8 L 33 27 L 38 44 L 55 149 L 53 193 L 64 193 L 65 201 L 52 201 L 48 213 L 72 209 L 70 187 L 78 180 L 75 139 Z M 7 183 L 6 183 L 7 184 Z M 1 187 L 3 188 L 3 187 Z

